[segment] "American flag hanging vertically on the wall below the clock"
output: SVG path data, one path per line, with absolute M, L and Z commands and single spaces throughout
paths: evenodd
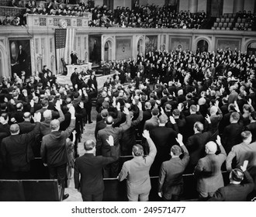
M 70 54 L 74 50 L 75 29 L 55 29 L 55 49 L 57 71 L 62 73 L 63 64 L 61 58 L 64 58 L 66 64 L 70 64 Z

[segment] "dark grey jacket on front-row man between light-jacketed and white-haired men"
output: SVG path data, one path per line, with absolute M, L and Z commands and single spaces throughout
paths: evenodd
M 169 200 L 171 195 L 181 195 L 183 191 L 183 177 L 185 167 L 189 164 L 189 152 L 185 146 L 181 146 L 184 152 L 180 157 L 164 161 L 159 173 L 158 192 L 163 192 L 164 198 Z

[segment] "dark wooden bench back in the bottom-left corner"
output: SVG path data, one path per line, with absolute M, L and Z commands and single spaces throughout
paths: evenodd
M 57 180 L 0 180 L 1 202 L 59 202 L 63 191 Z

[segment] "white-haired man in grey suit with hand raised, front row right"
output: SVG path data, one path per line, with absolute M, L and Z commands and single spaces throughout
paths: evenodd
M 220 147 L 220 153 L 216 155 L 217 145 Z M 205 201 L 212 197 L 214 192 L 224 186 L 223 176 L 221 174 L 221 165 L 226 160 L 227 153 L 220 142 L 220 136 L 216 143 L 206 143 L 206 157 L 199 160 L 195 167 L 195 177 L 197 179 L 197 191 L 199 200 Z

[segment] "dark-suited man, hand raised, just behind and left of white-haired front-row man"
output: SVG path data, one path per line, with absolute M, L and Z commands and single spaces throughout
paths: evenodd
M 211 126 L 209 116 L 207 117 L 209 121 L 209 129 Z M 190 160 L 187 170 L 189 173 L 192 173 L 195 169 L 196 164 L 199 162 L 199 159 L 206 155 L 205 146 L 209 142 L 210 137 L 213 133 L 210 130 L 202 133 L 203 125 L 202 122 L 195 122 L 193 136 L 189 136 L 189 139 L 185 143 L 185 146 L 189 150 Z

